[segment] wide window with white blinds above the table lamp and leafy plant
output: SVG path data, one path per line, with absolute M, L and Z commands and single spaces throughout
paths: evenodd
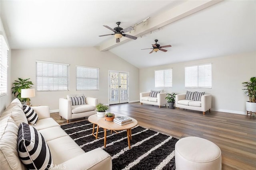
M 69 65 L 36 61 L 36 90 L 38 92 L 68 91 Z

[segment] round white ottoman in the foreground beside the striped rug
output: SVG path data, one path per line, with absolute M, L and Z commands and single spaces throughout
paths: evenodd
M 185 137 L 175 144 L 176 170 L 221 170 L 220 148 L 200 137 Z

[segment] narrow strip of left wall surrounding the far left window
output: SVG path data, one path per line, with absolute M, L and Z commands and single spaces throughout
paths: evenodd
M 1 2 L 0 2 L 0 4 L 1 4 Z M 4 38 L 7 41 L 6 43 L 8 45 L 9 44 L 8 39 L 6 37 L 6 32 L 4 30 L 4 26 L 3 26 L 1 18 L 0 18 L 0 34 L 4 35 Z M 10 47 L 9 47 L 9 49 L 10 49 Z M 11 62 L 11 50 L 8 53 L 8 63 L 10 63 L 10 62 Z M 10 76 L 10 74 L 11 74 L 10 64 L 9 64 L 9 67 L 8 67 L 7 74 L 8 74 L 8 76 Z M 11 100 L 12 100 L 12 95 L 11 95 L 12 91 L 11 91 L 11 88 L 10 88 L 12 83 L 11 83 L 11 80 L 10 80 L 9 77 L 7 78 L 7 81 L 8 81 L 7 96 L 0 97 L 0 113 L 2 113 L 2 111 L 4 111 L 5 107 L 8 106 L 10 104 Z

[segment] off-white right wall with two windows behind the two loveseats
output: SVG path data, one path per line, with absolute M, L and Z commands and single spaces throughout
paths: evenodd
M 185 88 L 184 67 L 204 63 L 212 63 L 212 88 Z M 164 92 L 176 94 L 185 93 L 186 90 L 205 92 L 212 94 L 212 110 L 245 114 L 245 101 L 248 101 L 248 98 L 242 90 L 242 82 L 256 76 L 255 63 L 256 52 L 142 68 L 140 92 L 155 89 L 154 70 L 172 68 L 172 88 L 165 88 Z

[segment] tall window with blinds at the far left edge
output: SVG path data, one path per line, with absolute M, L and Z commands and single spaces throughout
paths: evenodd
M 0 97 L 7 95 L 8 45 L 0 35 Z

